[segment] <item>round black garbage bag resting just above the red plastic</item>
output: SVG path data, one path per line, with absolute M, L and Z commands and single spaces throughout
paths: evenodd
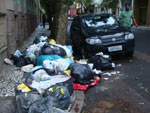
M 93 82 L 93 71 L 88 64 L 74 63 L 70 65 L 71 76 L 74 78 L 74 82 L 80 84 L 89 84 Z

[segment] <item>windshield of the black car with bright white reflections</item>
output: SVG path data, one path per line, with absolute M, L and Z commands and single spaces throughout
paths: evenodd
M 85 27 L 101 27 L 118 24 L 113 16 L 90 16 L 82 19 Z

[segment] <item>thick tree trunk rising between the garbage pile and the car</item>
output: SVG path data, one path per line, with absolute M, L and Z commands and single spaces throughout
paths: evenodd
M 59 44 L 65 44 L 68 26 L 68 4 L 62 0 L 56 0 L 52 38 Z

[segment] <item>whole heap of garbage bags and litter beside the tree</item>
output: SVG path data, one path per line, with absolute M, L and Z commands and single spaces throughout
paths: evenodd
M 26 50 L 4 59 L 26 75 L 25 82 L 16 86 L 17 113 L 64 113 L 74 90 L 86 91 L 99 83 L 101 70 L 115 68 L 102 53 L 80 61 L 74 61 L 72 54 L 72 46 L 41 34 Z

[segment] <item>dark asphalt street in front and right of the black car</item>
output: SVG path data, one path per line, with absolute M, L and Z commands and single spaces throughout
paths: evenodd
M 113 58 L 118 74 L 103 75 L 101 83 L 85 93 L 85 113 L 150 113 L 150 30 L 132 31 L 133 58 Z

